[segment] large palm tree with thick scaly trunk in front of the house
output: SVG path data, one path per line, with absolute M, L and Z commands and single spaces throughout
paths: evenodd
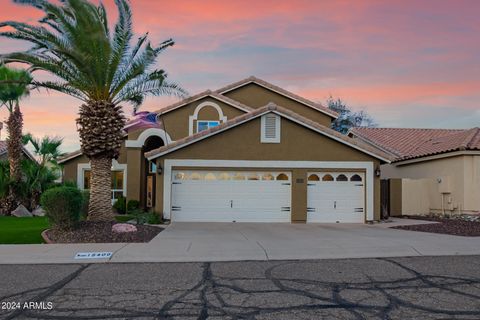
M 112 220 L 110 170 L 112 159 L 119 155 L 125 124 L 120 104 L 131 103 L 136 110 L 147 95 L 186 94 L 167 81 L 164 70 L 153 68 L 158 55 L 174 42 L 169 39 L 152 46 L 147 33 L 132 45 L 132 12 L 127 0 L 115 0 L 118 21 L 112 32 L 103 4 L 96 6 L 87 0 L 14 2 L 40 9 L 45 16 L 39 25 L 0 23 L 0 36 L 34 45 L 25 52 L 3 55 L 3 59 L 53 74 L 58 80 L 36 85 L 83 101 L 77 128 L 92 170 L 88 219 Z

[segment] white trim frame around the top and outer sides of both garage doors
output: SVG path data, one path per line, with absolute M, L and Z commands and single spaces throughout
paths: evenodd
M 271 168 L 271 169 L 358 169 L 365 170 L 365 220 L 374 220 L 374 165 L 366 161 L 263 161 L 167 159 L 163 169 L 163 214 L 171 219 L 172 172 L 174 167 Z

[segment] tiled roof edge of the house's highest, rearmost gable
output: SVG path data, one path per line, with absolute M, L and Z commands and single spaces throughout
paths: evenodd
M 292 93 L 290 91 L 287 91 L 283 88 L 280 88 L 274 84 L 271 84 L 265 80 L 262 80 L 262 79 L 259 79 L 257 77 L 254 77 L 254 76 L 250 76 L 246 79 L 243 79 L 243 80 L 240 80 L 240 81 L 237 81 L 237 82 L 234 82 L 232 84 L 229 84 L 223 88 L 220 88 L 218 90 L 216 90 L 216 92 L 220 93 L 220 94 L 224 94 L 224 93 L 227 93 L 229 91 L 232 91 L 234 89 L 237 89 L 237 88 L 240 88 L 240 87 L 243 87 L 247 84 L 250 84 L 250 83 L 255 83 L 261 87 L 264 87 L 264 88 L 267 88 L 271 91 L 274 91 L 282 96 L 285 96 L 287 98 L 290 98 L 292 100 L 296 100 L 312 109 L 315 109 L 317 111 L 320 111 L 332 118 L 338 118 L 338 113 L 336 113 L 335 111 L 333 110 L 330 110 L 329 108 L 327 107 L 324 107 L 322 106 L 320 103 L 316 103 L 316 102 L 313 102 L 311 100 L 308 100 L 308 99 L 305 99 L 304 97 L 301 97 L 299 95 L 296 95 L 295 93 Z

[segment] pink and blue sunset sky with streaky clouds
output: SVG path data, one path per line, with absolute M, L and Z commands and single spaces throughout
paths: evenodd
M 380 126 L 480 126 L 480 1 L 131 2 L 136 33 L 176 41 L 158 67 L 191 94 L 255 75 L 313 101 L 339 97 Z M 115 18 L 113 0 L 104 3 Z M 0 0 L 0 21 L 40 16 Z M 0 38 L 0 53 L 28 47 Z M 174 101 L 150 98 L 142 109 Z M 64 137 L 74 150 L 79 104 L 32 92 L 21 105 L 25 131 Z

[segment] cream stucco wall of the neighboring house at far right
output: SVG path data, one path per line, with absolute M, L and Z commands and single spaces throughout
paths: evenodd
M 480 156 L 459 155 L 403 166 L 383 165 L 382 178 L 403 178 L 403 214 L 480 211 Z M 418 180 L 418 181 L 415 181 Z M 441 181 L 441 182 L 439 182 Z

